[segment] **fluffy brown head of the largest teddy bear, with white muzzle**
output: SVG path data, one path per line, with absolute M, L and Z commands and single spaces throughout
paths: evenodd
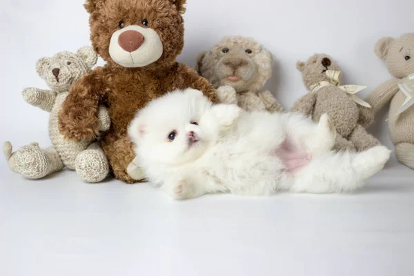
M 184 48 L 186 0 L 86 0 L 95 52 L 112 66 L 158 68 Z

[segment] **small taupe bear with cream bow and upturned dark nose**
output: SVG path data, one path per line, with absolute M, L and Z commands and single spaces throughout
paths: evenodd
M 364 86 L 340 86 L 340 68 L 328 55 L 316 54 L 306 63 L 299 61 L 297 69 L 310 92 L 294 104 L 291 112 L 302 112 L 314 121 L 328 113 L 338 133 L 334 150 L 362 151 L 380 144 L 365 129 L 373 122 L 373 112 L 355 95 Z

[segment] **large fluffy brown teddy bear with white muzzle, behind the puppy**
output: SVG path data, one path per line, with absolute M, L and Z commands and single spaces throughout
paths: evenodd
M 194 88 L 217 101 L 215 89 L 188 66 L 177 63 L 184 47 L 186 0 L 87 0 L 90 38 L 106 65 L 83 76 L 70 89 L 59 113 L 59 129 L 72 140 L 99 133 L 99 105 L 112 125 L 100 145 L 112 172 L 127 183 L 143 181 L 127 128 L 148 101 L 175 89 Z M 129 172 L 129 174 L 128 174 Z

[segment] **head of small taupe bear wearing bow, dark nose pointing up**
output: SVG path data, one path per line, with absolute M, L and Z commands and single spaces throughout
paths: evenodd
M 308 90 L 311 90 L 311 87 L 320 81 L 332 82 L 333 79 L 329 73 L 341 70 L 337 61 L 324 54 L 315 54 L 306 62 L 298 61 L 296 67 L 297 70 L 302 72 Z

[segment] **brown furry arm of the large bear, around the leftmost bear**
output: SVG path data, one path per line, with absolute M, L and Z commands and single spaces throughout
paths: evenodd
M 103 68 L 96 68 L 70 88 L 59 112 L 59 131 L 66 139 L 92 141 L 99 135 L 98 108 L 106 91 L 103 77 Z

